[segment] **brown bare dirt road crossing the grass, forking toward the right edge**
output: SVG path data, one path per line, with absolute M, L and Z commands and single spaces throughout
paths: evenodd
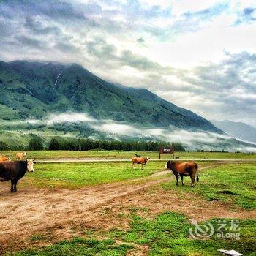
M 202 167 L 201 170 L 207 167 Z M 154 185 L 170 181 L 168 170 L 155 173 L 148 178 L 138 178 L 125 183 L 89 187 L 85 189 L 31 189 L 22 188 L 18 193 L 10 193 L 10 184 L 0 184 L 0 253 L 7 249 L 23 249 L 31 246 L 31 236 L 47 233 L 57 240 L 69 238 L 74 225 L 106 227 L 121 225 L 117 222 L 120 207 L 145 206 L 152 211 L 175 210 L 194 217 L 252 217 L 253 212 L 230 212 L 221 203 L 208 203 L 199 197 L 193 202 L 190 198 L 178 199 L 175 193 L 157 192 L 154 196 L 146 192 Z M 201 202 L 201 203 L 200 203 Z M 203 203 L 202 203 L 203 202 Z M 199 207 L 199 208 L 198 208 Z M 220 211 L 220 207 L 222 211 Z M 112 212 L 103 216 L 102 211 Z M 199 210 L 198 210 L 199 209 Z M 230 215 L 231 214 L 231 215 Z M 200 219 L 203 219 L 200 216 Z M 198 218 L 197 218 L 198 219 Z

